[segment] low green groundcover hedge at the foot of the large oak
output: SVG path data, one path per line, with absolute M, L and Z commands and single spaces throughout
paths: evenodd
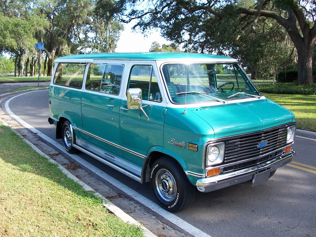
M 316 84 L 312 86 L 297 85 L 296 83 L 265 83 L 256 85 L 257 89 L 262 93 L 270 94 L 305 94 L 316 95 Z

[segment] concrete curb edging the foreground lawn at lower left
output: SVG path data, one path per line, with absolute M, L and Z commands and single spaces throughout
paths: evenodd
M 0 121 L 3 123 L 3 125 L 10 127 L 5 121 L 0 119 Z M 11 127 L 10 127 L 11 128 Z M 11 128 L 12 130 L 12 128 Z M 12 130 L 14 131 L 14 130 Z M 78 183 L 82 186 L 82 188 L 88 192 L 93 192 L 95 196 L 99 197 L 103 201 L 103 206 L 108 209 L 110 212 L 112 212 L 115 216 L 119 217 L 123 222 L 129 224 L 129 225 L 135 225 L 142 229 L 143 235 L 145 237 L 157 237 L 154 233 L 149 231 L 146 227 L 141 225 L 139 222 L 137 222 L 134 218 L 126 214 L 124 211 L 122 211 L 119 207 L 114 205 L 112 202 L 110 202 L 108 199 L 106 199 L 104 196 L 102 196 L 100 193 L 95 191 L 93 188 L 82 182 L 80 179 L 78 179 L 76 176 L 74 176 L 72 173 L 70 173 L 66 168 L 61 166 L 58 162 L 54 161 L 52 158 L 50 158 L 48 155 L 46 155 L 44 152 L 42 152 L 40 149 L 38 149 L 33 143 L 25 139 L 21 134 L 19 134 L 17 131 L 14 131 L 15 134 L 17 134 L 21 139 L 27 143 L 34 151 L 39 153 L 40 155 L 44 156 L 49 162 L 56 164 L 58 168 L 70 179 Z

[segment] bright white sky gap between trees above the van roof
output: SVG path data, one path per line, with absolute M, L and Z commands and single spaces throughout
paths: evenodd
M 161 46 L 162 44 L 171 44 L 170 41 L 162 38 L 157 31 L 148 33 L 147 37 L 144 37 L 142 33 L 132 32 L 131 27 L 133 26 L 134 23 L 132 22 L 124 25 L 125 30 L 120 35 L 115 52 L 149 52 L 151 43 L 154 41 L 157 41 Z

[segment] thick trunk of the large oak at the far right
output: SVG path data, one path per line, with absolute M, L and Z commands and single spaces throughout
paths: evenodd
M 313 47 L 302 45 L 297 50 L 298 82 L 299 84 L 313 85 Z

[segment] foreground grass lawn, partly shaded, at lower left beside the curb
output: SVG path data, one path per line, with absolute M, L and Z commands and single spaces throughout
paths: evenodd
M 0 236 L 143 236 L 0 123 Z

